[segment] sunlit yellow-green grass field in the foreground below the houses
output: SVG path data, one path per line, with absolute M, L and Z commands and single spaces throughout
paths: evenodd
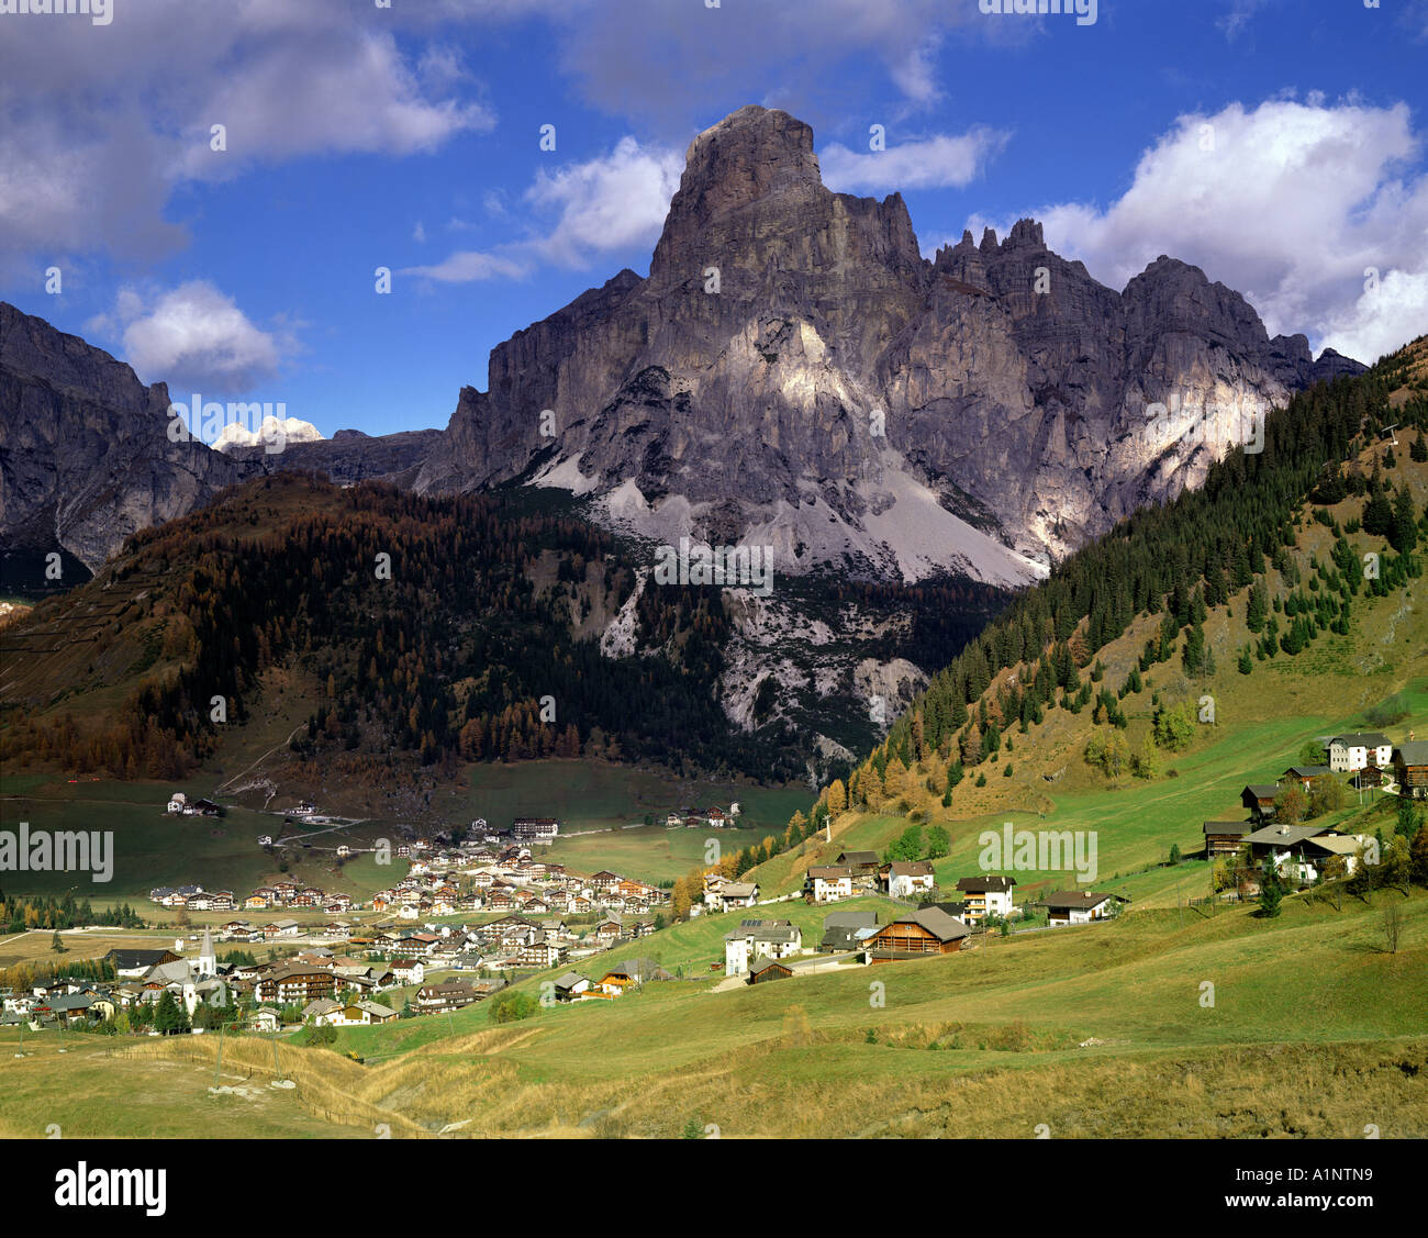
M 1382 910 L 1404 932 L 1385 950 Z M 821 912 L 820 912 L 821 914 Z M 733 917 L 684 927 L 701 957 Z M 671 941 L 674 932 L 670 931 Z M 653 944 L 653 940 L 651 940 Z M 644 945 L 644 944 L 641 944 Z M 637 951 L 650 952 L 650 951 Z M 540 978 L 523 987 L 538 991 Z M 1205 984 L 1214 985 L 1212 1005 Z M 878 992 L 877 984 L 883 985 Z M 851 968 L 714 994 L 647 985 L 614 1002 L 493 1027 L 477 1005 L 338 1034 L 337 1051 L 214 1037 L 114 1044 L 0 1035 L 0 1134 L 174 1134 L 220 1121 L 250 1137 L 1428 1135 L 1428 895 L 1295 897 L 1275 921 L 1130 912 L 921 962 Z M 871 1040 L 870 1040 L 871 1037 Z M 358 1065 L 344 1054 L 367 1058 Z M 57 1087 L 56 1082 L 63 1085 Z M 164 1112 L 131 1095 L 169 1087 Z

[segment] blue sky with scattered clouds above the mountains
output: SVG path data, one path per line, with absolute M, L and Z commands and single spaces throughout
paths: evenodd
M 1315 351 L 1428 330 L 1424 0 L 6 7 L 0 298 L 324 434 L 444 426 L 493 346 L 644 274 L 685 146 L 745 103 L 813 124 L 833 188 L 901 190 L 928 256 L 1031 214 L 1117 288 L 1170 253 Z

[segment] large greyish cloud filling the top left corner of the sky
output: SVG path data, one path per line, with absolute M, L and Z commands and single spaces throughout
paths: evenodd
M 121 10 L 103 30 L 4 23 L 0 268 L 34 254 L 153 260 L 186 240 L 164 218 L 184 180 L 328 151 L 430 151 L 494 126 L 454 51 L 398 46 L 347 0 Z M 210 150 L 213 124 L 227 127 L 226 153 Z

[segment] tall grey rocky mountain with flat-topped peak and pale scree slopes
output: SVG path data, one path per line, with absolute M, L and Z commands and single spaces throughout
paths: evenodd
M 648 278 L 498 346 L 416 485 L 567 487 L 783 573 L 1022 584 L 1359 368 L 1168 257 L 1115 293 L 1031 220 L 928 261 L 898 194 L 830 191 L 807 124 L 744 107 L 691 143 Z

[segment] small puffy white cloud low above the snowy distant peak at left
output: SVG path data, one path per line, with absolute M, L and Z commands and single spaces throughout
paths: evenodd
M 151 294 L 123 288 L 113 313 L 87 323 L 86 331 L 117 336 L 146 383 L 214 394 L 274 377 L 297 347 L 287 328 L 258 328 L 206 280 Z

